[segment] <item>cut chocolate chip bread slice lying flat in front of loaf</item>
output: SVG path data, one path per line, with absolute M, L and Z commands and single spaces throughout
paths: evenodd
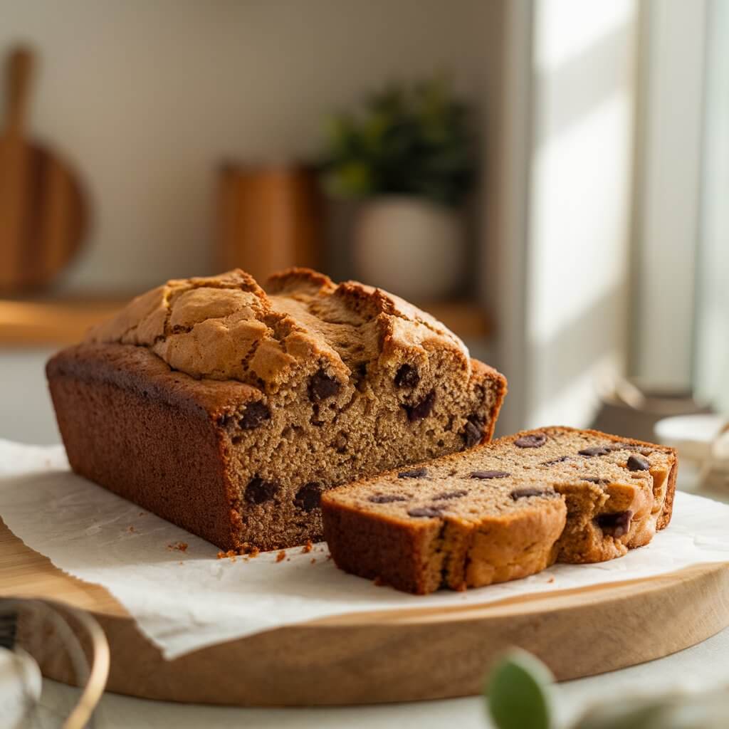
M 322 499 L 335 563 L 400 590 L 464 589 L 597 562 L 670 521 L 671 448 L 562 427 L 517 433 Z

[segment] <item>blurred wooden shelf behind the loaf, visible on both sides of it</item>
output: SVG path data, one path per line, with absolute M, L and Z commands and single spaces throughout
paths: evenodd
M 130 297 L 88 297 L 63 300 L 0 299 L 0 346 L 72 344 L 93 324 L 120 310 Z M 485 339 L 491 321 L 469 301 L 420 304 L 446 327 L 464 339 Z

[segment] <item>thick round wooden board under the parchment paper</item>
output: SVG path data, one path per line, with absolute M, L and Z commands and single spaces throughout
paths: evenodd
M 93 614 L 111 648 L 111 691 L 323 706 L 473 695 L 491 660 L 513 645 L 539 656 L 561 680 L 661 658 L 729 625 L 729 564 L 483 607 L 330 617 L 165 661 L 104 588 L 56 569 L 0 522 L 0 596 L 52 598 Z

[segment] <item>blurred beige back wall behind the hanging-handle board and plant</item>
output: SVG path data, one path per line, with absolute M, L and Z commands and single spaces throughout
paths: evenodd
M 0 0 L 0 51 L 42 55 L 35 133 L 77 165 L 95 223 L 67 288 L 211 269 L 214 170 L 311 155 L 325 112 L 450 69 L 482 105 L 483 0 Z

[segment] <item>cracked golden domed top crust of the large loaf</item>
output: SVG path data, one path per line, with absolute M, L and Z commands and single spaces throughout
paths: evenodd
M 356 281 L 292 268 L 270 278 L 269 293 L 241 270 L 168 281 L 136 297 L 87 340 L 145 346 L 193 377 L 238 380 L 273 391 L 318 359 L 341 377 L 354 364 L 386 362 L 432 348 L 453 353 L 470 374 L 467 348 L 440 321 L 394 295 Z M 342 337 L 346 346 L 342 346 Z M 359 343 L 354 362 L 351 345 Z

